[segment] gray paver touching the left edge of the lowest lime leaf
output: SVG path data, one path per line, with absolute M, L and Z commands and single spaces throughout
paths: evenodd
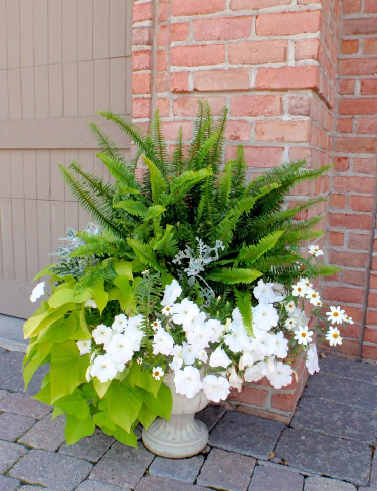
M 19 439 L 19 443 L 31 446 L 33 449 L 44 449 L 54 452 L 65 441 L 64 426 L 64 417 L 51 420 L 51 415 L 47 414 Z

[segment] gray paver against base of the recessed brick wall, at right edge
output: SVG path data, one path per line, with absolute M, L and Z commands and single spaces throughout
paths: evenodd
M 319 364 L 319 373 L 321 375 L 348 378 L 350 380 L 358 380 L 377 385 L 377 370 L 375 365 L 360 361 L 345 360 L 336 356 L 321 358 Z

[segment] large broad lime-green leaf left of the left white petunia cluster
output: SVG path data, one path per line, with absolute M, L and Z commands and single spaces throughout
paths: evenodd
M 77 386 L 85 383 L 88 366 L 89 354 L 80 356 L 74 341 L 54 345 L 50 361 L 51 401 L 72 394 Z

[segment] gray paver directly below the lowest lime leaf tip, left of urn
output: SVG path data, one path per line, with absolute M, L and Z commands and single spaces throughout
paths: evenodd
M 96 430 L 92 436 L 82 438 L 74 445 L 63 445 L 59 450 L 59 454 L 72 455 L 91 462 L 98 462 L 114 442 L 115 438 Z

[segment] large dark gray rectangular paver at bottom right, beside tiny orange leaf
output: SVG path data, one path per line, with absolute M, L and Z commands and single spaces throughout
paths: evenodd
M 287 428 L 274 452 L 274 462 L 287 462 L 308 473 L 358 485 L 369 480 L 371 448 L 364 442 Z

